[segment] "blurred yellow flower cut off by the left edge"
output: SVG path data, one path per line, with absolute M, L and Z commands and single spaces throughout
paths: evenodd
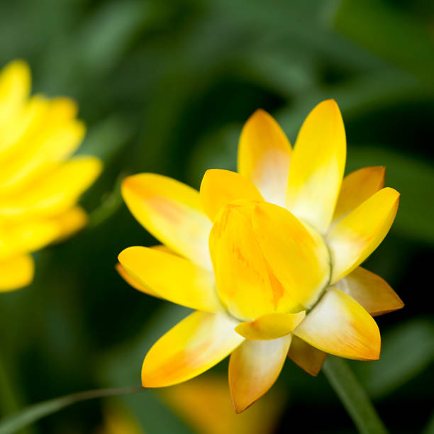
M 30 252 L 71 235 L 87 215 L 80 194 L 101 172 L 95 157 L 69 158 L 84 124 L 67 98 L 30 94 L 28 65 L 0 71 L 0 292 L 33 279 Z

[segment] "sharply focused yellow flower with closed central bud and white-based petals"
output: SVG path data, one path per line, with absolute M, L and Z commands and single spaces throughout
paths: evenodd
M 240 136 L 238 173 L 208 170 L 200 193 L 157 174 L 125 179 L 130 211 L 165 246 L 123 250 L 119 272 L 141 291 L 196 309 L 150 349 L 143 386 L 183 382 L 232 353 L 239 412 L 272 386 L 286 355 L 313 375 L 326 353 L 379 358 L 372 316 L 403 304 L 359 265 L 389 231 L 399 194 L 382 188 L 382 167 L 343 179 L 345 153 L 343 120 L 329 100 L 308 115 L 294 150 L 256 111 Z

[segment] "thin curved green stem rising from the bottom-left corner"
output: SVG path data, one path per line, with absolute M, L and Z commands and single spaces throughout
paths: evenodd
M 71 404 L 79 401 L 86 401 L 87 399 L 104 398 L 106 396 L 119 396 L 135 394 L 143 391 L 142 386 L 134 387 L 121 387 L 118 389 L 96 389 L 89 391 L 82 391 L 76 394 L 60 396 L 59 398 L 49 399 L 38 404 L 33 404 L 24 408 L 22 411 L 15 413 L 11 416 L 0 421 L 0 434 L 12 434 L 17 430 L 38 421 L 56 411 L 62 410 Z

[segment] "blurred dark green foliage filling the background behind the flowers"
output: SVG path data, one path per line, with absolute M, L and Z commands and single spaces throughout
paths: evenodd
M 294 143 L 308 111 L 333 97 L 347 130 L 347 169 L 386 165 L 386 184 L 402 194 L 396 223 L 367 268 L 406 307 L 378 318 L 379 362 L 352 367 L 391 432 L 433 432 L 432 2 L 0 6 L 0 65 L 23 57 L 35 92 L 77 99 L 88 126 L 80 152 L 99 155 L 106 167 L 82 201 L 89 227 L 39 252 L 34 284 L 0 298 L 1 416 L 74 391 L 139 384 L 145 352 L 185 316 L 128 287 L 113 269 L 124 247 L 154 242 L 121 201 L 126 174 L 158 172 L 199 187 L 206 169 L 235 168 L 240 128 L 255 109 L 277 116 Z M 276 387 L 286 398 L 275 432 L 294 424 L 311 433 L 354 432 L 323 374 L 314 379 L 287 363 Z M 117 410 L 108 408 L 117 406 L 145 433 L 200 430 L 157 391 L 145 391 L 77 404 L 25 432 L 111 433 L 104 426 L 116 426 Z

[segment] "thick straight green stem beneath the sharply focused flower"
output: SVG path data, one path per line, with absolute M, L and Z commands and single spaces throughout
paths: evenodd
M 362 434 L 386 434 L 384 423 L 375 411 L 365 389 L 345 360 L 328 356 L 323 373 Z

